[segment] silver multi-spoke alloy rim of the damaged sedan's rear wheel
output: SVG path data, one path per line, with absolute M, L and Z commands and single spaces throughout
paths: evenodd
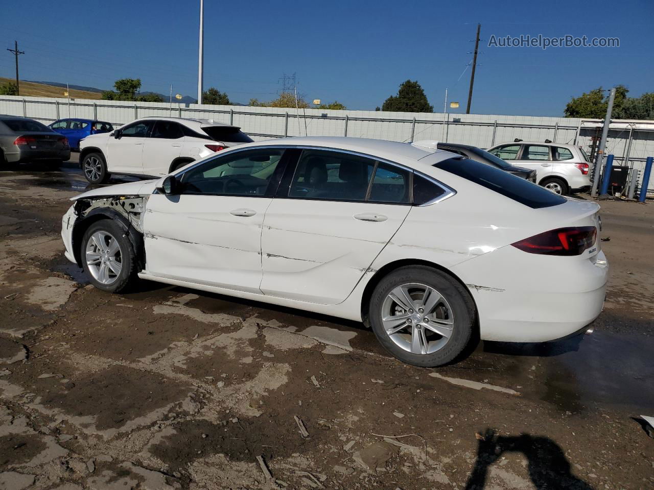
M 431 354 L 452 336 L 454 316 L 447 300 L 424 284 L 402 284 L 388 293 L 381 321 L 390 340 L 413 354 Z

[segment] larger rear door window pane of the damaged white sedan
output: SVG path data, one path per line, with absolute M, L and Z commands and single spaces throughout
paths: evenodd
M 375 161 L 370 158 L 304 150 L 288 195 L 303 199 L 365 201 L 374 169 Z

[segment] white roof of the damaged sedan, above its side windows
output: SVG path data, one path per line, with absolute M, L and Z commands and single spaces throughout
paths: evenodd
M 422 146 L 427 142 L 419 142 L 421 145 L 413 143 L 402 143 L 398 141 L 388 140 L 375 140 L 369 138 L 352 138 L 343 136 L 309 136 L 309 137 L 290 137 L 280 138 L 265 141 L 256 141 L 247 143 L 243 146 L 313 146 L 319 148 L 335 150 L 346 150 L 371 156 L 376 156 L 398 163 L 403 163 L 410 167 L 422 167 L 423 165 L 416 165 L 421 159 L 425 158 L 424 165 L 431 166 L 441 160 L 460 157 L 460 155 L 446 152 L 444 150 L 437 150 L 435 148 Z M 432 144 L 436 144 L 434 141 Z M 430 158 L 426 158 L 430 157 Z

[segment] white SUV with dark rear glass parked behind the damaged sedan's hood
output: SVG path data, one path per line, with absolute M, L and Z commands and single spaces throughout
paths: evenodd
M 80 141 L 80 167 L 91 184 L 111 173 L 164 176 L 230 146 L 252 142 L 240 127 L 191 118 L 141 118 Z

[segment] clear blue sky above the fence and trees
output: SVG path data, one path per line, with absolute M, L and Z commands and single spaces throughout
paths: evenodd
M 196 95 L 199 0 L 23 0 L 0 12 L 0 47 L 17 39 L 26 52 L 22 79 L 111 88 L 131 77 L 142 90 L 168 93 L 173 84 L 173 93 Z M 372 110 L 410 78 L 436 112 L 445 88 L 460 103 L 452 112 L 465 112 L 470 40 L 481 22 L 471 112 L 560 116 L 571 96 L 600 85 L 654 91 L 653 18 L 651 0 L 205 0 L 205 88 L 241 103 L 267 100 L 284 73 L 296 73 L 309 101 Z M 487 46 L 491 35 L 538 34 L 619 37 L 620 47 Z M 9 52 L 0 76 L 14 76 Z

